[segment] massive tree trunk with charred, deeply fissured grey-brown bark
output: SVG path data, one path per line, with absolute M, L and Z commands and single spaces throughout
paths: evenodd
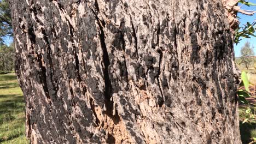
M 222 1 L 10 4 L 32 143 L 241 143 Z

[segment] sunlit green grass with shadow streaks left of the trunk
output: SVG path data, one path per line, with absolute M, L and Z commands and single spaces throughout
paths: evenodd
M 0 75 L 0 143 L 28 143 L 24 98 L 14 74 Z

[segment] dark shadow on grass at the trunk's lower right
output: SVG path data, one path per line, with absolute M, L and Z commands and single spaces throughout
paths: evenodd
M 256 128 L 256 123 L 242 123 L 240 122 L 240 135 L 243 144 L 251 142 L 251 131 Z

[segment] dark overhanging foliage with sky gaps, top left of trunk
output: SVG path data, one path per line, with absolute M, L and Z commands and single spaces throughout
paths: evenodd
M 0 44 L 3 44 L 4 37 L 12 37 L 11 11 L 7 0 L 0 0 Z

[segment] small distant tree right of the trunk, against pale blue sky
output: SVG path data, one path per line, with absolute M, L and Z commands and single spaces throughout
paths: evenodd
M 245 65 L 246 69 L 253 63 L 254 52 L 253 45 L 251 46 L 249 41 L 245 43 L 245 45 L 241 49 L 241 63 Z

